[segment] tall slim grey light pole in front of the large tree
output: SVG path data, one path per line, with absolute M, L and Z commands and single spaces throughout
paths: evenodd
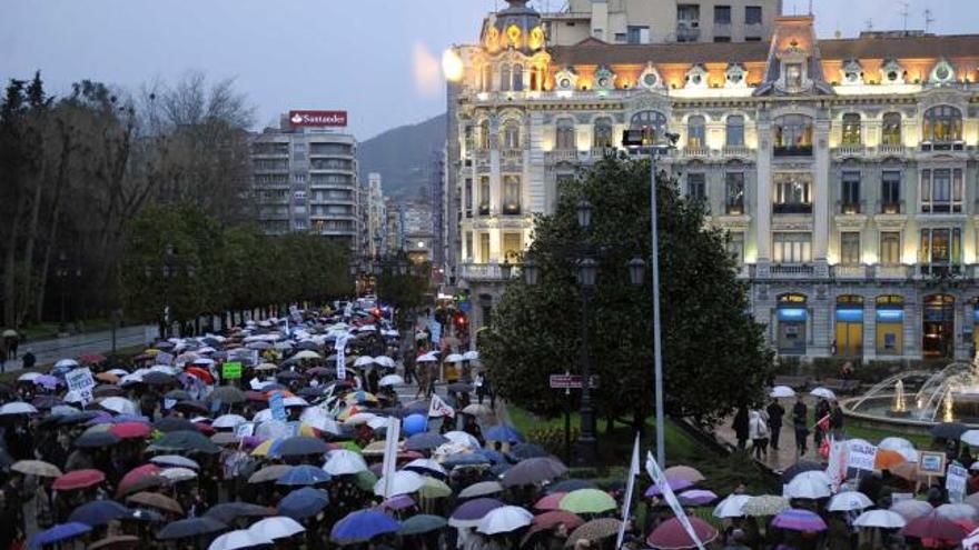
M 625 130 L 622 144 L 647 151 L 650 154 L 650 240 L 653 271 L 653 386 L 656 406 L 656 461 L 665 467 L 666 460 L 666 412 L 663 407 L 663 352 L 660 330 L 660 231 L 656 222 L 656 158 L 676 148 L 679 136 L 665 133 L 665 140 L 656 142 L 656 131 Z M 650 138 L 653 139 L 650 139 Z

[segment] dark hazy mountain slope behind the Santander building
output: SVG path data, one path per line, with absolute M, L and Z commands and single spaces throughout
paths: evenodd
M 384 194 L 398 202 L 427 193 L 432 156 L 444 146 L 445 113 L 387 130 L 360 143 L 360 181 L 380 173 Z

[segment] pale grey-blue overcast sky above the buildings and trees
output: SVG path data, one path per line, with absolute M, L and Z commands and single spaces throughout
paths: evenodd
M 552 10 L 563 0 L 535 0 Z M 813 0 L 821 37 L 900 29 L 899 0 Z M 977 0 L 908 0 L 909 27 L 979 32 Z M 188 70 L 235 78 L 259 126 L 290 108 L 346 109 L 366 139 L 445 108 L 437 68 L 478 38 L 502 0 L 0 0 L 0 78 L 40 69 L 63 93 L 80 79 L 130 89 Z M 809 0 L 784 0 L 785 11 Z

